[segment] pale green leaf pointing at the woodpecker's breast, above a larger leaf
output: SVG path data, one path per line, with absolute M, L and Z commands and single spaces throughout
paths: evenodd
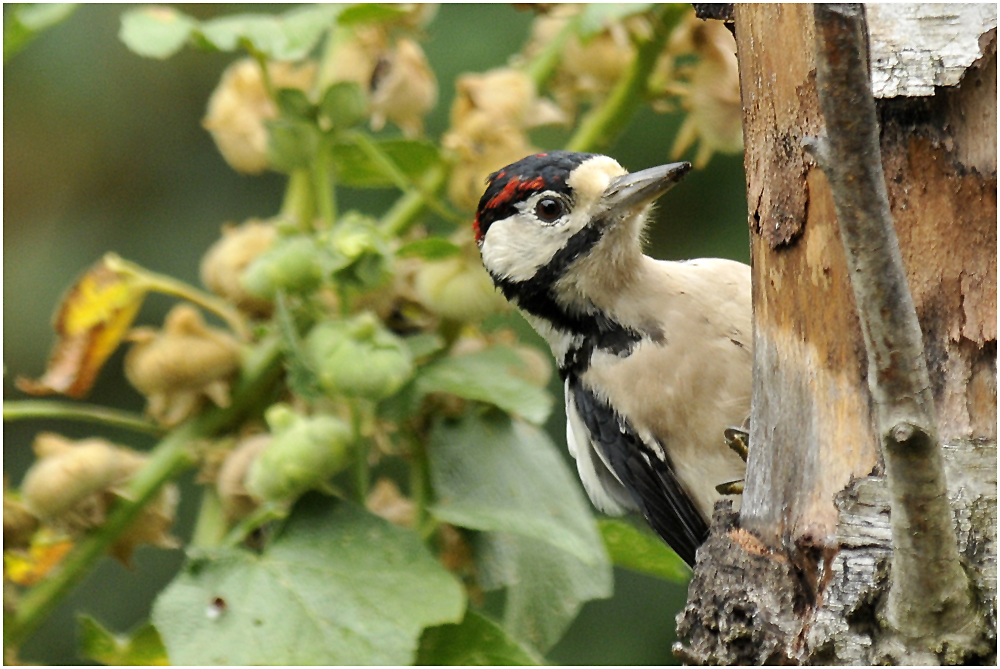
M 517 353 L 502 346 L 441 358 L 420 370 L 417 390 L 488 402 L 541 424 L 552 412 L 552 396 L 544 388 L 517 376 L 523 365 Z

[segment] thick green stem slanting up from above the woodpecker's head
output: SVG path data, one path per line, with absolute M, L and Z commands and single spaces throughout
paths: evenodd
M 654 17 L 652 37 L 638 45 L 635 58 L 608 98 L 583 119 L 566 144 L 568 151 L 600 150 L 618 137 L 642 103 L 646 82 L 681 11 L 673 5 L 661 5 Z

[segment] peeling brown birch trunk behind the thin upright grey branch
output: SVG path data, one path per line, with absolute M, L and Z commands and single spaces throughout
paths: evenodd
M 737 5 L 733 16 L 753 264 L 750 458 L 739 516 L 717 509 L 699 551 L 678 655 L 995 663 L 996 6 L 868 8 L 882 169 L 936 406 L 949 540 L 981 623 L 922 651 L 890 633 L 891 504 L 869 356 L 830 182 L 803 150 L 834 130 L 820 111 L 813 7 Z

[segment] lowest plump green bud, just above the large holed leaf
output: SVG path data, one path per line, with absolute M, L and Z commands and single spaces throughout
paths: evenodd
M 273 438 L 244 480 L 254 498 L 280 501 L 298 496 L 349 464 L 354 434 L 339 418 L 298 416 L 286 405 L 275 405 L 267 419 Z

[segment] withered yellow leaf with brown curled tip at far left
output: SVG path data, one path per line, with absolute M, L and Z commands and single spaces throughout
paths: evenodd
M 98 372 L 128 333 L 142 306 L 146 284 L 108 266 L 104 258 L 67 291 L 53 327 L 58 341 L 40 379 L 19 378 L 30 395 L 84 397 Z

